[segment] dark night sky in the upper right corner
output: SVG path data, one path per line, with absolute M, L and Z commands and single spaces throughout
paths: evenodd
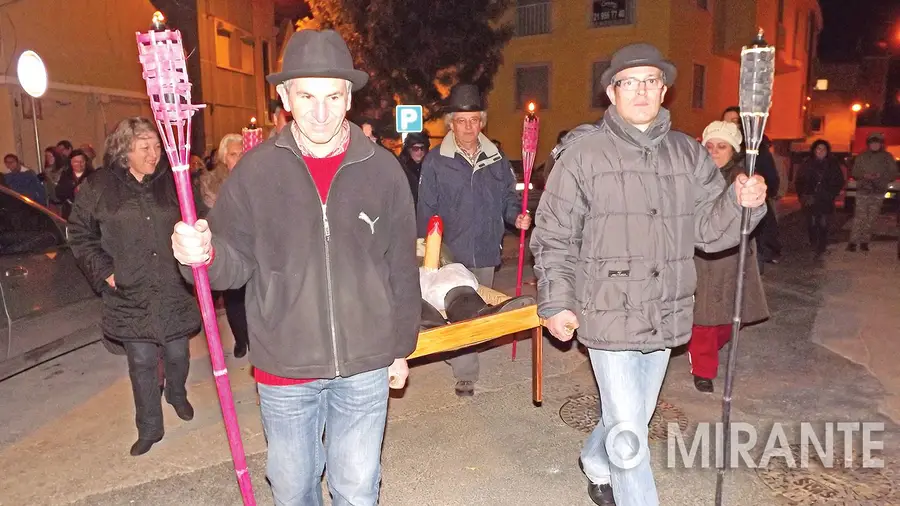
M 877 53 L 881 40 L 900 54 L 900 0 L 819 0 L 819 4 L 825 18 L 820 59 L 854 60 Z

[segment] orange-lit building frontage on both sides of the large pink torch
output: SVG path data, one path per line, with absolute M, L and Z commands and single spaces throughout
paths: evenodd
M 176 5 L 183 12 L 167 12 Z M 277 54 L 273 0 L 8 2 L 0 6 L 2 153 L 17 154 L 28 167 L 42 165 L 31 98 L 16 77 L 26 49 L 41 56 L 49 76 L 47 93 L 36 102 L 43 147 L 67 139 L 76 147 L 91 144 L 102 157 L 103 142 L 120 120 L 148 116 L 135 33 L 149 28 L 156 10 L 183 32 L 194 101 L 208 104 L 195 123 L 194 151 L 209 152 L 251 116 L 265 124 L 264 73 Z

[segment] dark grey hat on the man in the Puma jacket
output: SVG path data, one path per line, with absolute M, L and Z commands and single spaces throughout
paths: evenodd
M 344 39 L 334 30 L 300 30 L 291 36 L 284 50 L 281 72 L 269 74 L 274 85 L 297 77 L 334 77 L 353 83 L 358 90 L 369 74 L 353 68 L 353 56 Z

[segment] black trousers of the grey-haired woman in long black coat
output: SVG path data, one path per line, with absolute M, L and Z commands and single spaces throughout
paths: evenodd
M 162 394 L 159 388 L 159 362 L 165 371 L 165 394 L 169 404 L 187 400 L 187 375 L 191 365 L 187 336 L 164 346 L 151 342 L 125 342 L 128 376 L 134 394 L 135 424 L 140 439 L 159 439 L 165 428 Z

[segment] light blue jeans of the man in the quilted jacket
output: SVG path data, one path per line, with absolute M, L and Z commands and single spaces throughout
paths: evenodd
M 671 352 L 589 351 L 602 409 L 581 451 L 581 465 L 592 483 L 612 485 L 618 506 L 659 506 L 648 426 Z

